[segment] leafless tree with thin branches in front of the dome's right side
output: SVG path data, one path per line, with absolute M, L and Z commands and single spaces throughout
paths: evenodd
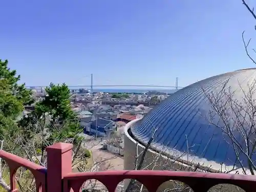
M 226 142 L 232 146 L 238 163 L 234 163 L 232 169 L 238 170 L 237 165 L 239 165 L 243 174 L 247 174 L 246 169 L 249 168 L 250 174 L 254 175 L 256 166 L 252 156 L 256 152 L 256 80 L 247 84 L 247 88 L 242 87 L 238 81 L 240 90 L 236 91 L 243 93 L 242 96 L 239 95 L 239 100 L 235 97 L 236 91 L 228 87 L 228 81 L 223 84 L 219 92 L 211 92 L 210 94 L 204 92 L 212 108 L 205 119 L 218 127 L 229 138 L 229 141 Z M 215 117 L 220 118 L 220 120 Z M 246 157 L 247 162 L 240 159 L 241 155 Z M 248 167 L 245 167 L 245 163 Z M 230 171 L 225 170 L 225 173 L 230 173 Z

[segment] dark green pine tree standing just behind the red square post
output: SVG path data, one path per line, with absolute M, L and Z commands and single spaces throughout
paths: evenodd
M 38 121 L 41 121 L 42 126 L 52 132 L 52 137 L 55 131 L 58 135 L 60 131 L 63 132 L 63 137 L 66 138 L 74 137 L 77 134 L 79 122 L 71 109 L 70 96 L 70 90 L 65 83 L 61 85 L 50 83 L 50 86 L 46 88 L 45 99 L 36 103 L 35 111 L 24 118 L 20 125 L 24 128 L 28 126 L 28 123 L 37 126 Z M 60 129 L 63 124 L 67 129 Z M 36 128 L 34 127 L 33 130 Z

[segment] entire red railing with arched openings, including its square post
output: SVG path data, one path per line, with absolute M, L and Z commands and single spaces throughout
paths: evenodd
M 102 172 L 72 173 L 72 144 L 55 143 L 47 148 L 47 166 L 39 166 L 26 159 L 0 151 L 10 168 L 11 191 L 17 191 L 15 172 L 23 166 L 31 170 L 36 180 L 36 191 L 48 192 L 79 192 L 84 182 L 96 179 L 106 189 L 114 192 L 124 179 L 135 179 L 142 183 L 150 192 L 168 180 L 177 180 L 187 184 L 194 192 L 207 191 L 218 184 L 233 184 L 245 191 L 256 191 L 256 176 L 173 172 L 159 170 L 110 170 Z M 222 191 L 232 191 L 232 188 Z

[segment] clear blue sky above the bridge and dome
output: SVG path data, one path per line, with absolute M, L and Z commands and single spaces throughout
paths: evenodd
M 255 45 L 255 21 L 242 0 L 0 2 L 0 58 L 28 86 L 90 84 L 91 73 L 95 84 L 186 86 L 254 67 L 241 33 Z

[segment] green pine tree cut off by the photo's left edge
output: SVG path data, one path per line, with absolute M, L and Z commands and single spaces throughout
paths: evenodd
M 16 129 L 17 117 L 25 104 L 33 102 L 31 91 L 18 84 L 20 76 L 8 68 L 8 60 L 0 59 L 0 134 L 10 134 Z

